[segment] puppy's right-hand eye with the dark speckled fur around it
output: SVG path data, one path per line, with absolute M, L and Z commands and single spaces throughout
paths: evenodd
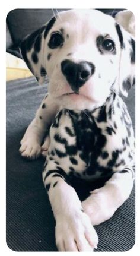
M 96 45 L 101 54 L 111 53 L 116 54 L 116 46 L 112 39 L 103 36 L 98 36 L 96 39 Z

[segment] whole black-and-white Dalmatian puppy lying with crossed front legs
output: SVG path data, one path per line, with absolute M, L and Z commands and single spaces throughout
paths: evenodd
M 49 77 L 21 156 L 46 154 L 43 182 L 58 250 L 93 251 L 93 226 L 112 217 L 133 187 L 135 141 L 119 93 L 128 96 L 135 84 L 135 40 L 109 15 L 68 10 L 27 36 L 20 49 L 40 84 Z M 81 202 L 71 176 L 107 182 Z

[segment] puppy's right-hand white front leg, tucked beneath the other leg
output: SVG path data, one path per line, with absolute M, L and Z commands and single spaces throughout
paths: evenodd
M 82 207 L 93 225 L 110 219 L 117 208 L 125 202 L 133 188 L 133 176 L 132 168 L 116 172 L 104 187 L 95 189 L 86 200 L 82 201 Z

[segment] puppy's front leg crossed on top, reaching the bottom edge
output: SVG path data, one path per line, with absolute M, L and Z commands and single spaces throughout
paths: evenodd
M 67 181 L 61 167 L 49 161 L 43 172 L 43 182 L 56 220 L 56 246 L 59 251 L 93 251 L 98 244 L 96 230 Z

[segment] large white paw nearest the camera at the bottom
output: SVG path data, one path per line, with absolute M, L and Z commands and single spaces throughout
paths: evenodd
M 56 246 L 59 251 L 93 251 L 98 236 L 90 218 L 81 210 L 56 219 Z

